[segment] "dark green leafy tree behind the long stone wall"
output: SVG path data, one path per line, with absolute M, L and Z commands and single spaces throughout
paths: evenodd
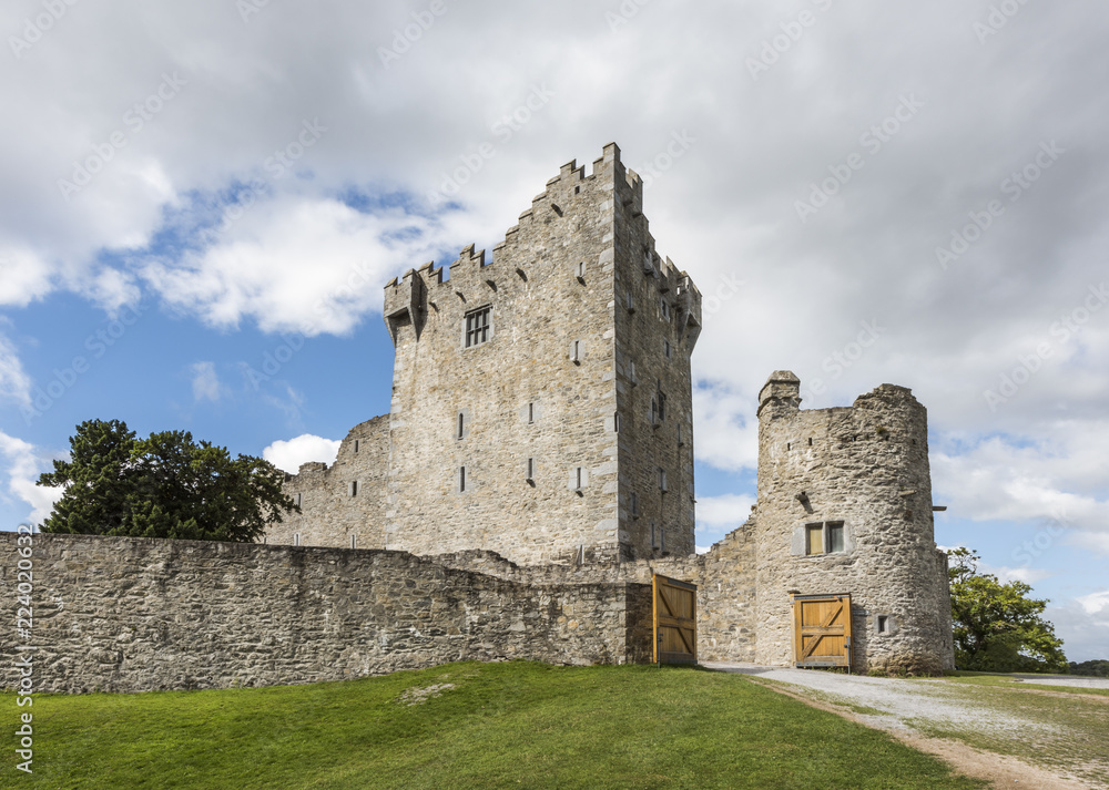
M 299 512 L 284 479 L 268 461 L 232 459 L 187 431 L 138 439 L 120 420 L 87 420 L 70 437 L 70 460 L 39 476 L 39 485 L 65 489 L 42 531 L 253 542 L 267 523 Z

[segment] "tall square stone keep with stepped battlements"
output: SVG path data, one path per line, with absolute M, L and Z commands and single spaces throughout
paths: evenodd
M 655 252 L 614 144 L 588 176 L 564 165 L 491 261 L 471 245 L 389 283 L 385 547 L 692 553 L 700 304 Z

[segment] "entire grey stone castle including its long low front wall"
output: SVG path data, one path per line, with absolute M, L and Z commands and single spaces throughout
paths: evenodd
M 384 312 L 389 413 L 287 478 L 301 512 L 264 544 L 32 536 L 37 690 L 651 660 L 655 574 L 696 585 L 700 660 L 820 665 L 802 634 L 846 622 L 825 639 L 843 666 L 954 668 L 927 415 L 903 387 L 802 410 L 797 377 L 772 373 L 756 505 L 694 553 L 701 297 L 655 252 L 614 144 L 589 175 L 564 165 L 491 261 L 470 246 L 409 270 Z M 14 620 L 14 596 L 2 606 Z

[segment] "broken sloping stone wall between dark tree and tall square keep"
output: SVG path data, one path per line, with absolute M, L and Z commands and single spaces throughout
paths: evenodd
M 301 512 L 271 524 L 266 543 L 385 548 L 388 458 L 387 414 L 352 428 L 335 463 L 305 463 L 286 478 L 284 491 L 299 500 Z

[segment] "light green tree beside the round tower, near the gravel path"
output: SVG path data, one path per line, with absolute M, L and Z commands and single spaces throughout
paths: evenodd
M 980 671 L 1057 671 L 1069 668 L 1062 639 L 1040 617 L 1047 601 L 1028 597 L 1024 582 L 1001 583 L 978 573 L 978 553 L 954 548 L 947 553 L 952 581 L 955 664 Z

